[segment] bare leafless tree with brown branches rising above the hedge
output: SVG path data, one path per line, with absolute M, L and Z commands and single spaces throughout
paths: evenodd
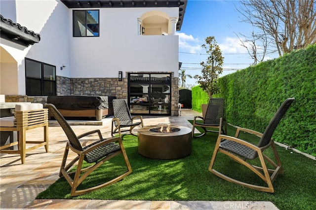
M 314 0 L 241 0 L 242 21 L 267 35 L 279 56 L 316 43 Z

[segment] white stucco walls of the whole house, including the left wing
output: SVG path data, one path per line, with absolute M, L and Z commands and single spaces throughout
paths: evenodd
M 27 48 L 1 39 L 0 46 L 17 62 L 17 95 L 25 94 L 24 58 L 56 66 L 56 75 L 69 78 L 117 78 L 118 71 L 123 77 L 126 71 L 173 71 L 178 76 L 178 36 L 138 35 L 137 21 L 155 9 L 177 17 L 178 7 L 99 8 L 100 36 L 73 37 L 73 9 L 59 0 L 16 0 L 0 6 L 1 13 L 12 11 L 5 18 L 40 34 L 40 42 Z

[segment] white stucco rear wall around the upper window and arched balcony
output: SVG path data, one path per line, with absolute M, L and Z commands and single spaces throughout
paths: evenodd
M 159 9 L 170 17 L 179 13 L 179 8 Z M 177 35 L 137 35 L 137 18 L 151 10 L 100 8 L 100 36 L 71 38 L 71 77 L 117 78 L 118 71 L 124 77 L 126 71 L 174 71 L 178 75 Z

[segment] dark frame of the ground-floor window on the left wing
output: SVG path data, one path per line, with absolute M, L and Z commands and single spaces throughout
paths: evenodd
M 28 72 L 27 72 L 28 71 L 27 61 L 32 61 L 32 62 L 40 64 L 40 78 L 27 76 L 28 75 Z M 43 63 L 43 62 L 40 62 L 40 61 L 36 61 L 36 60 L 30 59 L 30 58 L 25 58 L 24 64 L 25 64 L 25 93 L 26 93 L 26 95 L 28 95 L 28 96 L 56 96 L 56 93 L 57 93 L 56 66 L 50 65 L 50 64 L 46 64 L 46 63 Z M 44 66 L 49 66 L 49 67 L 54 68 L 54 72 L 53 72 L 54 77 L 53 77 L 53 79 L 44 78 L 44 76 L 45 76 L 45 74 L 44 74 Z M 35 80 L 39 80 L 40 81 L 40 95 L 32 93 L 32 91 L 29 90 L 29 88 L 28 88 L 28 79 L 33 79 L 33 80 L 35 79 Z M 53 92 L 51 92 L 50 94 L 46 94 L 47 91 L 44 90 L 45 82 L 53 82 L 53 86 L 54 86 L 53 87 Z

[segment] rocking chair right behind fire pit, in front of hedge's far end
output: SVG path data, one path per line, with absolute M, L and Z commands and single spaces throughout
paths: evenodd
M 202 122 L 200 122 L 200 120 L 202 120 Z M 201 127 L 203 129 L 203 133 L 201 133 L 198 136 L 195 136 L 194 131 L 196 127 Z M 209 130 L 207 128 L 217 128 L 223 134 L 227 134 L 227 123 L 224 119 L 224 99 L 223 98 L 211 98 L 207 105 L 205 116 L 194 117 L 192 137 L 204 136 L 206 132 L 217 132 L 214 130 Z

